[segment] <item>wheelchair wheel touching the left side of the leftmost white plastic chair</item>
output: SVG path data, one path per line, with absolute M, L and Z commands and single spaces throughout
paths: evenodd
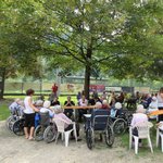
M 57 127 L 54 125 L 48 126 L 43 133 L 43 139 L 47 143 L 52 142 L 57 137 Z

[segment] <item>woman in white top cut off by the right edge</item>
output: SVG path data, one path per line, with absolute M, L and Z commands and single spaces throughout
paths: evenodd
M 160 88 L 160 91 L 156 98 L 158 98 L 158 109 L 163 110 L 163 87 Z M 159 122 L 163 121 L 163 114 L 158 116 L 158 121 Z

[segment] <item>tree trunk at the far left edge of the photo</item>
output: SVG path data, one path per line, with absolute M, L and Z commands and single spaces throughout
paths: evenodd
M 5 67 L 0 67 L 0 100 L 3 99 L 5 80 Z

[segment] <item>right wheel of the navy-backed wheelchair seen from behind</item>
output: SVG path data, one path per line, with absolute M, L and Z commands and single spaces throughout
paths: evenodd
M 114 131 L 112 126 L 108 125 L 105 128 L 105 143 L 109 147 L 112 147 L 114 143 Z

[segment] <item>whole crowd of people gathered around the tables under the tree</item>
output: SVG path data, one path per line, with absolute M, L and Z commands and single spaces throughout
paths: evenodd
M 25 117 L 25 138 L 29 140 L 34 139 L 34 130 L 37 125 L 36 116 L 38 116 L 39 112 L 48 111 L 51 121 L 53 117 L 63 118 L 66 122 L 65 130 L 71 129 L 73 127 L 72 122 L 76 121 L 77 136 L 79 137 L 79 123 L 83 122 L 83 115 L 91 113 L 98 109 L 110 110 L 111 115 L 114 110 L 117 110 L 116 115 L 114 115 L 117 116 L 122 113 L 124 108 L 127 108 L 128 110 L 134 108 L 136 113 L 133 116 L 133 126 L 141 121 L 148 121 L 148 112 L 163 110 L 163 87 L 158 93 L 140 93 L 137 91 L 131 96 L 126 92 L 115 93 L 114 91 L 111 93 L 103 92 L 99 96 L 97 91 L 93 91 L 90 93 L 89 99 L 86 99 L 85 92 L 82 91 L 76 96 L 76 105 L 79 105 L 80 109 L 77 110 L 78 116 L 77 120 L 75 120 L 74 110 L 72 108 L 68 109 L 68 106 L 75 105 L 75 102 L 72 100 L 71 96 L 67 96 L 67 99 L 64 102 L 64 106 L 66 106 L 66 109 L 64 110 L 64 106 L 61 106 L 61 102 L 57 96 L 57 90 L 58 88 L 55 88 L 55 92 L 52 92 L 52 96 L 50 96 L 48 100 L 45 100 L 45 97 L 41 96 L 37 101 L 33 101 L 35 91 L 33 89 L 28 89 L 24 101 L 16 99 L 9 106 L 12 112 L 15 111 L 15 108 L 18 108 L 22 111 L 22 115 Z M 95 105 L 95 109 L 82 109 L 83 106 L 85 108 L 88 105 Z M 163 121 L 163 115 L 159 115 L 158 117 L 158 122 L 161 121 Z M 137 131 L 134 130 L 134 133 L 137 135 Z

